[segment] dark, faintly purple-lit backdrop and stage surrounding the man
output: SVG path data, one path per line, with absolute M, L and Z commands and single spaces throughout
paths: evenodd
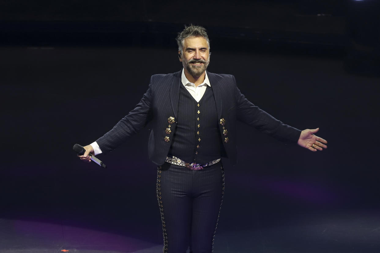
M 320 127 L 329 142 L 310 152 L 239 125 L 238 164 L 223 161 L 217 252 L 379 252 L 371 0 L 1 0 L 0 252 L 162 244 L 149 130 L 99 155 L 106 170 L 72 146 L 111 129 L 152 74 L 181 69 L 174 38 L 190 23 L 209 33 L 209 71 L 233 74 L 254 104 L 298 129 Z M 123 248 L 93 231 L 145 243 Z

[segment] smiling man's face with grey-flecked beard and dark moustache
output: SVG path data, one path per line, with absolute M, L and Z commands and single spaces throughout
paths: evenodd
M 190 37 L 184 40 L 182 65 L 193 77 L 201 76 L 210 63 L 210 50 L 204 37 Z M 178 52 L 180 53 L 180 51 Z

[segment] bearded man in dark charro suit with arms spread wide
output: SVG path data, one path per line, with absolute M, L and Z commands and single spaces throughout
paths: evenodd
M 211 252 L 223 199 L 224 174 L 220 157 L 236 163 L 236 120 L 277 139 L 298 143 L 311 151 L 327 141 L 283 124 L 253 105 L 232 75 L 206 71 L 210 43 L 203 27 L 190 25 L 177 36 L 183 69 L 153 75 L 135 109 L 79 156 L 111 151 L 152 121 L 149 159 L 158 165 L 157 199 L 166 253 Z

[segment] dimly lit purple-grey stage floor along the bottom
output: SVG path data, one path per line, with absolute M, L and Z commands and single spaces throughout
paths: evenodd
M 220 253 L 378 253 L 380 217 L 378 212 L 356 211 L 301 215 L 287 224 L 246 230 L 217 230 L 214 252 Z M 94 221 L 96 222 L 96 221 Z M 0 219 L 2 253 L 158 253 L 162 245 L 134 237 L 125 228 L 89 229 L 56 220 Z M 149 230 L 149 228 L 146 228 Z M 160 235 L 157 235 L 157 238 Z

